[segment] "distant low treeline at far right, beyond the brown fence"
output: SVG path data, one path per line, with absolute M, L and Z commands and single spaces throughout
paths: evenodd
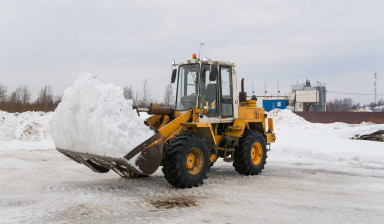
M 355 103 L 351 98 L 343 98 L 327 102 L 327 111 L 353 111 L 359 109 L 384 111 L 379 108 L 380 106 L 384 106 L 384 99 L 379 100 L 377 103 L 372 102 L 362 105 L 361 103 Z

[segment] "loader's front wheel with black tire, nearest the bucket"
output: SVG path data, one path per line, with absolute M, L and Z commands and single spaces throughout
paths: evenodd
M 200 156 L 200 159 L 193 160 L 193 166 L 198 168 L 196 170 L 187 167 L 187 158 L 193 152 Z M 196 133 L 183 132 L 167 144 L 162 171 L 165 179 L 174 187 L 197 187 L 203 184 L 210 163 L 210 151 L 206 141 Z

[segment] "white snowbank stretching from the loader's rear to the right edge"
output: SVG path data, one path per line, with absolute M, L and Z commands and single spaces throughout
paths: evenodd
M 288 110 L 271 114 L 276 119 L 276 143 L 268 156 L 272 161 L 384 168 L 382 142 L 352 139 L 384 130 L 384 124 L 320 124 L 307 122 Z

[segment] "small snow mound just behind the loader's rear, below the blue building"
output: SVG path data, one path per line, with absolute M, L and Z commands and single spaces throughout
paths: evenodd
M 310 122 L 290 110 L 274 109 L 267 112 L 267 115 L 269 118 L 273 118 L 276 125 L 297 126 L 310 124 Z

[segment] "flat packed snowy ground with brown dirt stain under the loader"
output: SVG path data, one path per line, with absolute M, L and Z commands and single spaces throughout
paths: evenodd
M 94 173 L 54 149 L 0 151 L 0 223 L 383 223 L 384 170 L 218 162 L 203 186 Z

